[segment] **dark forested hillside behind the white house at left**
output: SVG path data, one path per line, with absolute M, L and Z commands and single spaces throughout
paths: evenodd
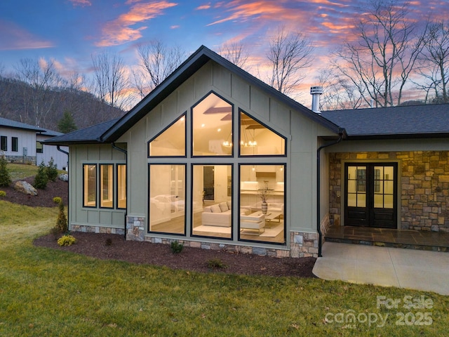
M 125 113 L 85 91 L 32 87 L 22 81 L 0 77 L 0 117 L 59 131 L 58 122 L 64 112 L 72 114 L 77 128 Z

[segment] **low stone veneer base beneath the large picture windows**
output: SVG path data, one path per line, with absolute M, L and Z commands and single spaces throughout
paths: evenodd
M 154 244 L 171 244 L 177 241 L 186 247 L 201 249 L 225 250 L 234 253 L 249 253 L 276 258 L 302 258 L 307 256 L 318 257 L 318 233 L 290 232 L 291 247 L 288 249 L 275 249 L 264 247 L 239 246 L 236 244 L 217 244 L 213 242 L 198 242 L 183 240 L 181 238 L 166 239 L 161 237 L 145 237 L 145 218 L 126 217 L 126 239 L 133 241 L 147 241 Z

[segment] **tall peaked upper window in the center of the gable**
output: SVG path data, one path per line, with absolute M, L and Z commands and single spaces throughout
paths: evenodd
M 210 93 L 192 109 L 192 154 L 232 155 L 232 105 Z

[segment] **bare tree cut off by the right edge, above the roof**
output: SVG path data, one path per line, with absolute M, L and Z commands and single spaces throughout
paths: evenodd
M 419 61 L 417 73 L 424 82 L 417 86 L 426 91 L 426 101 L 449 103 L 449 20 L 429 24 Z

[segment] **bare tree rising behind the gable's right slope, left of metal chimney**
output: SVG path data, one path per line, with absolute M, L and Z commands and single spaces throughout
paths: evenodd
M 269 84 L 289 95 L 307 76 L 303 71 L 311 65 L 311 42 L 300 32 L 286 32 L 279 27 L 278 33 L 269 41 L 267 58 L 272 70 Z

